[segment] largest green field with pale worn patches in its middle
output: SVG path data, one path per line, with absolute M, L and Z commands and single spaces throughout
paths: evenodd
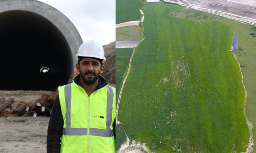
M 145 4 L 145 39 L 118 111 L 130 141 L 153 152 L 246 151 L 245 91 L 230 53 L 231 28 L 170 15 L 183 7 Z

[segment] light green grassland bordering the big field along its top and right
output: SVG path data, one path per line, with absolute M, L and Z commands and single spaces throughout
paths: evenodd
M 167 3 L 166 3 L 167 4 Z M 171 5 L 171 4 L 169 4 Z M 256 26 L 252 26 L 247 23 L 241 23 L 240 21 L 235 21 L 227 19 L 225 17 L 212 15 L 210 13 L 205 13 L 197 11 L 194 9 L 182 9 L 176 12 L 171 13 L 171 15 L 176 17 L 184 17 L 194 20 L 211 20 L 215 19 L 226 23 L 228 27 L 232 28 L 232 31 L 238 36 L 238 48 L 235 53 L 238 62 L 240 62 L 241 71 L 244 76 L 244 85 L 247 90 L 247 98 L 245 105 L 245 115 L 248 117 L 249 122 L 252 122 L 253 125 L 256 125 Z M 252 135 L 256 136 L 255 127 L 252 130 Z M 256 138 L 253 137 L 254 142 Z M 256 146 L 252 146 L 256 150 Z

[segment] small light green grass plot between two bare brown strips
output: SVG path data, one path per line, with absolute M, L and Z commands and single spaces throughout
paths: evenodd
M 116 41 L 140 41 L 142 40 L 142 27 L 127 26 L 116 28 Z

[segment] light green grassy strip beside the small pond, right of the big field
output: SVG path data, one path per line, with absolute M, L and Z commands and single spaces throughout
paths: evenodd
M 253 123 L 252 135 L 254 142 L 256 142 L 256 37 L 253 38 L 250 35 L 252 32 L 256 33 L 256 30 L 253 30 L 255 26 L 250 24 L 240 23 L 233 20 L 225 20 L 227 26 L 231 27 L 236 35 L 238 36 L 238 47 L 242 48 L 242 51 L 237 49 L 236 57 L 241 66 L 241 71 L 243 74 L 244 85 L 247 90 L 247 98 L 245 105 L 245 115 L 248 117 L 249 121 Z M 240 56 L 241 55 L 241 56 Z M 256 146 L 252 146 L 254 152 L 256 152 Z

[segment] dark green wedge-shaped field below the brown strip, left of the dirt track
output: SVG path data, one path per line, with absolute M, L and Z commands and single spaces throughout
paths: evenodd
M 119 90 L 132 56 L 132 50 L 133 48 L 116 48 L 116 65 L 118 65 L 116 67 L 116 96 L 119 95 Z

